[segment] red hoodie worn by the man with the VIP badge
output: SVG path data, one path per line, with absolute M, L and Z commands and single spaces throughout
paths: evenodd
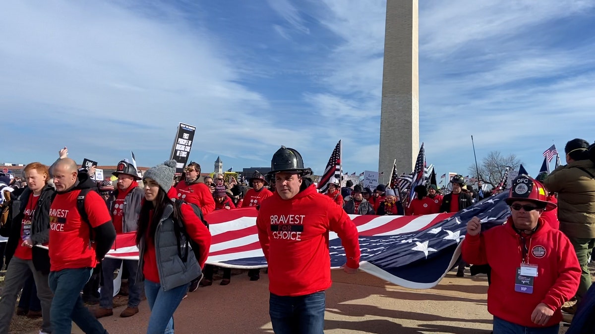
M 488 311 L 507 322 L 526 327 L 540 327 L 531 321 L 538 304 L 554 310 L 546 326 L 562 320 L 560 307 L 577 292 L 581 267 L 572 244 L 562 232 L 552 229 L 543 219 L 530 235 L 529 263 L 537 264 L 533 294 L 515 291 L 516 270 L 521 264 L 521 240 L 513 229 L 512 218 L 480 235 L 466 235 L 463 259 L 470 264 L 490 264 L 491 285 L 487 291 Z

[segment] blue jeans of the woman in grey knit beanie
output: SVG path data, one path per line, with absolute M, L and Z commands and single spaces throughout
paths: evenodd
M 174 332 L 174 312 L 186 295 L 188 286 L 190 283 L 163 291 L 161 284 L 145 279 L 145 295 L 151 310 L 147 334 L 171 334 Z

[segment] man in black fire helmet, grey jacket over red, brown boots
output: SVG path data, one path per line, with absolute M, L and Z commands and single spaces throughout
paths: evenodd
M 115 172 L 118 178 L 117 189 L 109 197 L 107 205 L 111 213 L 112 223 L 116 234 L 134 232 L 137 229 L 141 201 L 145 192 L 139 188 L 139 175 L 133 165 L 122 160 L 118 163 Z M 103 286 L 100 291 L 99 308 L 95 310 L 95 317 L 102 318 L 114 314 L 112 311 L 114 298 L 114 271 L 120 266 L 128 270 L 128 307 L 120 317 L 130 317 L 139 313 L 140 284 L 136 283 L 136 272 L 139 266 L 137 260 L 105 259 L 102 261 Z

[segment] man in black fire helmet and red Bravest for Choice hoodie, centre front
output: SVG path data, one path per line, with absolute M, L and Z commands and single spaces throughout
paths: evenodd
M 331 286 L 328 233 L 341 238 L 347 263 L 359 268 L 358 230 L 342 207 L 318 193 L 302 156 L 281 146 L 271 160 L 278 196 L 261 203 L 258 238 L 268 262 L 271 322 L 275 333 L 320 334 L 325 290 Z

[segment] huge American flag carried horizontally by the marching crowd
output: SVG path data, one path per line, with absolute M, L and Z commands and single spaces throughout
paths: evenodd
M 359 231 L 360 269 L 391 283 L 414 289 L 436 286 L 460 255 L 466 223 L 478 216 L 485 231 L 510 215 L 506 193 L 488 197 L 458 213 L 424 216 L 350 215 Z M 205 216 L 212 235 L 207 263 L 220 267 L 267 267 L 258 241 L 254 207 L 218 210 Z M 331 269 L 345 263 L 345 250 L 330 232 Z M 138 259 L 134 232 L 121 234 L 106 257 Z

